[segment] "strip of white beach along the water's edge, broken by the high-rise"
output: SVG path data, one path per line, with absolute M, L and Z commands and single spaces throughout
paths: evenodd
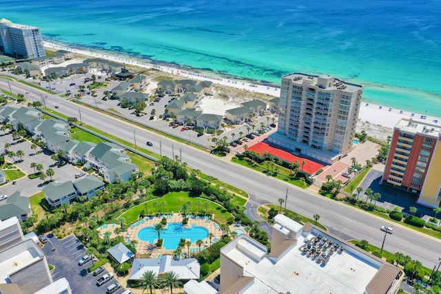
M 139 61 L 137 59 L 132 58 L 131 56 L 124 56 L 125 58 L 119 57 L 119 54 L 103 54 L 103 52 L 99 52 L 99 50 L 92 50 L 86 48 L 71 48 L 66 47 L 65 45 L 59 45 L 57 43 L 52 43 L 48 41 L 43 41 L 43 45 L 45 48 L 50 48 L 53 50 L 66 50 L 70 52 L 74 52 L 77 54 L 82 54 L 85 56 L 91 56 L 95 58 L 107 59 L 110 61 L 114 61 L 116 63 L 125 63 L 127 65 L 133 65 L 138 67 L 143 67 L 145 69 L 155 69 L 161 70 L 162 72 L 167 72 L 168 74 L 174 74 L 176 76 L 183 76 L 186 78 L 196 79 L 198 81 L 212 81 L 212 83 L 216 83 L 219 85 L 225 85 L 229 87 L 236 87 L 242 90 L 249 90 L 252 92 L 258 92 L 262 94 L 268 94 L 270 96 L 279 97 L 280 96 L 280 87 L 268 86 L 258 84 L 253 79 L 243 79 L 240 80 L 238 78 L 225 78 L 214 75 L 209 75 L 208 73 L 201 72 L 192 72 L 191 70 L 185 70 L 178 67 L 173 67 L 170 64 L 165 65 L 156 65 L 154 63 Z M 106 52 L 107 53 L 107 52 Z M 160 63 L 161 64 L 161 63 Z M 199 71 L 199 70 L 198 70 Z M 254 86 L 250 86 L 254 85 Z M 369 101 L 369 98 L 365 98 Z M 362 100 L 362 105 L 360 106 L 360 113 L 358 114 L 358 120 L 369 123 L 369 125 L 380 125 L 382 127 L 387 127 L 393 129 L 401 118 L 413 118 L 414 120 L 420 120 L 420 116 L 427 116 L 424 120 L 425 123 L 433 123 L 434 120 L 438 120 L 438 124 L 441 127 L 441 118 L 436 116 L 431 116 L 427 114 L 420 114 L 416 112 L 409 112 L 401 109 L 391 109 L 389 112 L 390 106 L 382 105 L 380 109 L 380 105 L 366 103 Z M 414 116 L 411 114 L 414 113 Z

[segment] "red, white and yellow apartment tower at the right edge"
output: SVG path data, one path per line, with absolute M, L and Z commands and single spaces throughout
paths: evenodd
M 413 118 L 393 129 L 383 182 L 418 193 L 417 203 L 438 207 L 441 201 L 441 127 Z

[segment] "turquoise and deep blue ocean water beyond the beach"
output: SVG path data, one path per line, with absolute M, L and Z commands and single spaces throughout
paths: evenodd
M 280 83 L 365 85 L 365 100 L 441 116 L 441 1 L 0 0 L 0 18 L 54 43 Z

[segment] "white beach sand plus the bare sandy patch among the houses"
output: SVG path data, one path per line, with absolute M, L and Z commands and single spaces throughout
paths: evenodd
M 250 90 L 253 92 L 259 92 L 263 94 L 269 94 L 271 96 L 280 96 L 280 88 L 277 87 L 267 87 L 266 85 L 257 85 L 252 83 L 245 83 L 243 81 L 234 81 L 234 80 L 227 80 L 225 78 L 219 78 L 217 76 L 208 76 L 205 74 L 199 74 L 196 72 L 187 72 L 186 70 L 180 70 L 178 68 L 174 67 L 163 67 L 158 65 L 153 65 L 150 63 L 144 63 L 143 61 L 135 61 L 132 59 L 123 59 L 120 57 L 112 56 L 112 55 L 106 55 L 106 54 L 100 54 L 96 52 L 92 52 L 91 50 L 79 50 L 79 49 L 73 49 L 73 48 L 67 48 L 61 45 L 57 45 L 50 42 L 43 42 L 45 47 L 51 48 L 54 50 L 66 50 L 78 54 L 82 54 L 85 56 L 91 56 L 101 59 L 107 59 L 110 61 L 114 61 L 117 63 L 125 63 L 129 65 L 135 65 L 138 67 L 144 67 L 144 68 L 155 68 L 156 70 L 162 70 L 163 72 L 167 72 L 170 74 L 176 74 L 178 76 L 183 76 L 185 78 L 192 78 L 196 80 L 206 80 L 206 81 L 212 81 L 213 83 L 220 84 L 220 85 L 226 85 L 229 87 L 237 87 L 239 89 L 243 90 Z M 254 87 L 250 86 L 254 85 Z M 216 108 L 216 109 L 222 109 L 225 111 L 226 109 L 232 109 L 234 107 L 237 107 L 236 103 L 224 103 L 222 105 L 219 105 L 219 101 L 210 101 L 210 99 L 206 99 L 203 101 L 203 109 L 205 109 L 207 112 L 210 111 L 210 108 Z M 393 127 L 396 126 L 398 121 L 401 118 L 413 118 L 414 120 L 422 120 L 420 117 L 425 114 L 417 114 L 415 113 L 414 116 L 411 116 L 411 112 L 402 112 L 400 113 L 400 109 L 391 109 L 389 111 L 389 107 L 387 105 L 382 105 L 381 109 L 379 105 L 373 105 L 373 104 L 367 104 L 362 103 L 362 106 L 360 107 L 360 114 L 359 114 L 359 123 L 357 126 L 357 131 L 359 132 L 360 129 L 365 129 L 366 132 L 371 130 L 376 131 L 378 133 L 373 134 L 377 138 L 386 138 L 387 136 L 390 136 L 392 134 Z M 440 124 L 441 126 L 441 118 L 436 118 L 434 116 L 427 116 L 426 119 L 422 120 L 426 123 L 435 123 L 435 121 L 438 120 L 437 124 Z M 368 127 L 366 127 L 368 126 Z M 382 128 L 383 127 L 383 128 Z M 388 134 L 384 134 L 384 133 Z M 390 133 L 390 134 L 389 134 Z M 369 134 L 369 132 L 368 132 Z

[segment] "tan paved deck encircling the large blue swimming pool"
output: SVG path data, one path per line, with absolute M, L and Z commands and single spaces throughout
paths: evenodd
M 167 218 L 167 223 L 178 223 L 183 221 L 183 216 L 178 213 L 173 213 L 173 214 L 170 213 L 168 215 L 165 214 L 163 216 Z M 119 234 L 125 237 L 126 242 L 129 240 L 137 241 L 136 258 L 141 258 L 141 256 L 145 257 L 145 255 L 148 254 L 147 245 L 150 244 L 150 242 L 148 241 L 139 240 L 138 238 L 139 231 L 141 231 L 145 227 L 153 227 L 154 224 L 158 224 L 159 222 L 161 222 L 161 220 L 162 220 L 162 216 L 161 217 L 156 216 L 153 219 L 149 218 L 148 220 L 144 219 L 144 222 L 140 220 L 141 221 L 140 224 L 138 224 L 137 226 L 133 226 L 132 224 L 129 227 L 127 227 L 127 231 L 121 232 Z M 185 225 L 185 227 L 191 228 L 193 224 L 196 224 L 196 226 L 198 227 L 205 227 L 208 229 L 209 232 L 213 233 L 214 237 L 212 238 L 212 244 L 218 242 L 218 240 L 220 240 L 220 238 L 222 237 L 222 231 L 219 229 L 219 225 L 213 220 L 207 221 L 205 218 L 192 217 L 192 218 L 188 218 L 188 223 L 187 225 Z M 110 235 L 110 238 L 112 239 L 116 237 L 116 233 L 114 233 L 114 230 L 119 227 L 121 227 L 119 224 L 105 224 L 97 230 L 100 232 L 101 238 L 103 238 L 105 232 L 112 233 L 112 235 Z M 243 226 L 236 227 L 236 224 L 232 224 L 231 226 L 229 226 L 229 229 L 230 231 L 234 231 L 235 229 L 241 229 L 242 231 L 245 231 Z M 154 240 L 154 242 L 156 241 L 157 239 Z M 206 243 L 207 246 L 210 246 L 209 238 L 205 238 L 203 241 L 204 244 Z M 201 246 L 201 250 L 203 250 L 203 248 L 205 248 L 205 245 Z M 187 246 L 182 247 L 181 249 L 183 253 L 187 253 L 188 251 Z M 157 258 L 158 255 L 163 255 L 163 254 L 172 254 L 174 250 L 175 249 L 158 248 L 156 252 L 151 255 L 151 258 Z M 196 245 L 196 242 L 193 242 L 192 246 L 189 247 L 190 255 L 192 255 L 192 253 L 197 253 L 196 250 L 198 250 L 198 246 Z

